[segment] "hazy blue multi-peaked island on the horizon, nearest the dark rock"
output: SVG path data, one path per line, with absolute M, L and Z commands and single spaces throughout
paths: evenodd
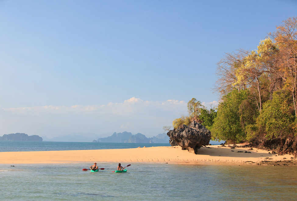
M 169 143 L 169 137 L 166 133 L 158 134 L 147 138 L 141 133 L 132 135 L 131 132 L 119 132 L 114 133 L 109 137 L 98 138 L 98 140 L 93 140 L 93 142 L 107 142 L 107 143 Z

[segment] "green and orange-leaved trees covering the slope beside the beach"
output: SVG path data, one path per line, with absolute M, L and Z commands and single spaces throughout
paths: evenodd
M 296 149 L 297 17 L 283 21 L 256 50 L 226 53 L 216 74 L 217 108 L 208 110 L 193 98 L 189 116 L 175 119 L 174 128 L 196 120 L 213 139 Z

